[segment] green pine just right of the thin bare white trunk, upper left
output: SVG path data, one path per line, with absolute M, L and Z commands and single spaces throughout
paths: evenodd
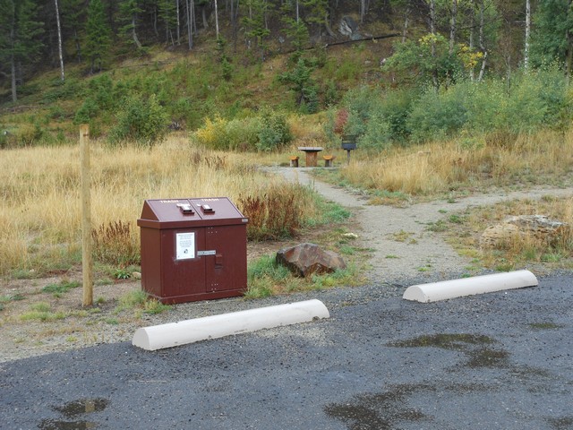
M 90 60 L 90 72 L 101 71 L 111 46 L 111 30 L 101 0 L 90 0 L 86 22 L 85 52 Z

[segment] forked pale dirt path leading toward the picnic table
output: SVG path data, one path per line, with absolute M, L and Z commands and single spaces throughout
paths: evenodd
M 312 186 L 332 202 L 355 209 L 356 234 L 361 237 L 363 246 L 372 249 L 372 269 L 368 274 L 372 283 L 401 283 L 415 278 L 451 279 L 466 271 L 470 261 L 458 255 L 439 233 L 428 230 L 429 224 L 448 219 L 454 211 L 515 199 L 536 199 L 547 194 L 573 195 L 571 189 L 497 191 L 456 202 L 441 200 L 396 208 L 368 205 L 363 196 L 317 181 L 306 168 L 276 168 L 276 172 L 289 181 Z

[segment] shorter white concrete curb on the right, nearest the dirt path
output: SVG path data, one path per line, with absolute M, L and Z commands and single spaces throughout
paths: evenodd
M 531 271 L 508 271 L 461 280 L 444 280 L 407 288 L 402 298 L 422 303 L 454 297 L 491 293 L 503 289 L 535 287 L 539 282 Z

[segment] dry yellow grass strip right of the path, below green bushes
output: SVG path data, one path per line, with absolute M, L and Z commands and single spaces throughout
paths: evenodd
M 350 183 L 412 195 L 543 183 L 546 176 L 562 179 L 573 167 L 573 134 L 522 135 L 509 143 L 484 136 L 471 145 L 460 141 L 429 143 L 353 160 L 341 172 Z

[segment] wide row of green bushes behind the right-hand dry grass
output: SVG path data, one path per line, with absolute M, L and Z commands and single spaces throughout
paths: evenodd
M 436 90 L 349 90 L 341 102 L 347 111 L 342 133 L 357 136 L 364 149 L 428 142 L 477 134 L 534 133 L 563 130 L 573 118 L 573 93 L 563 73 L 545 69 L 503 79 L 460 81 Z M 327 135 L 340 124 L 331 115 Z M 330 132 L 330 133 L 329 133 Z

